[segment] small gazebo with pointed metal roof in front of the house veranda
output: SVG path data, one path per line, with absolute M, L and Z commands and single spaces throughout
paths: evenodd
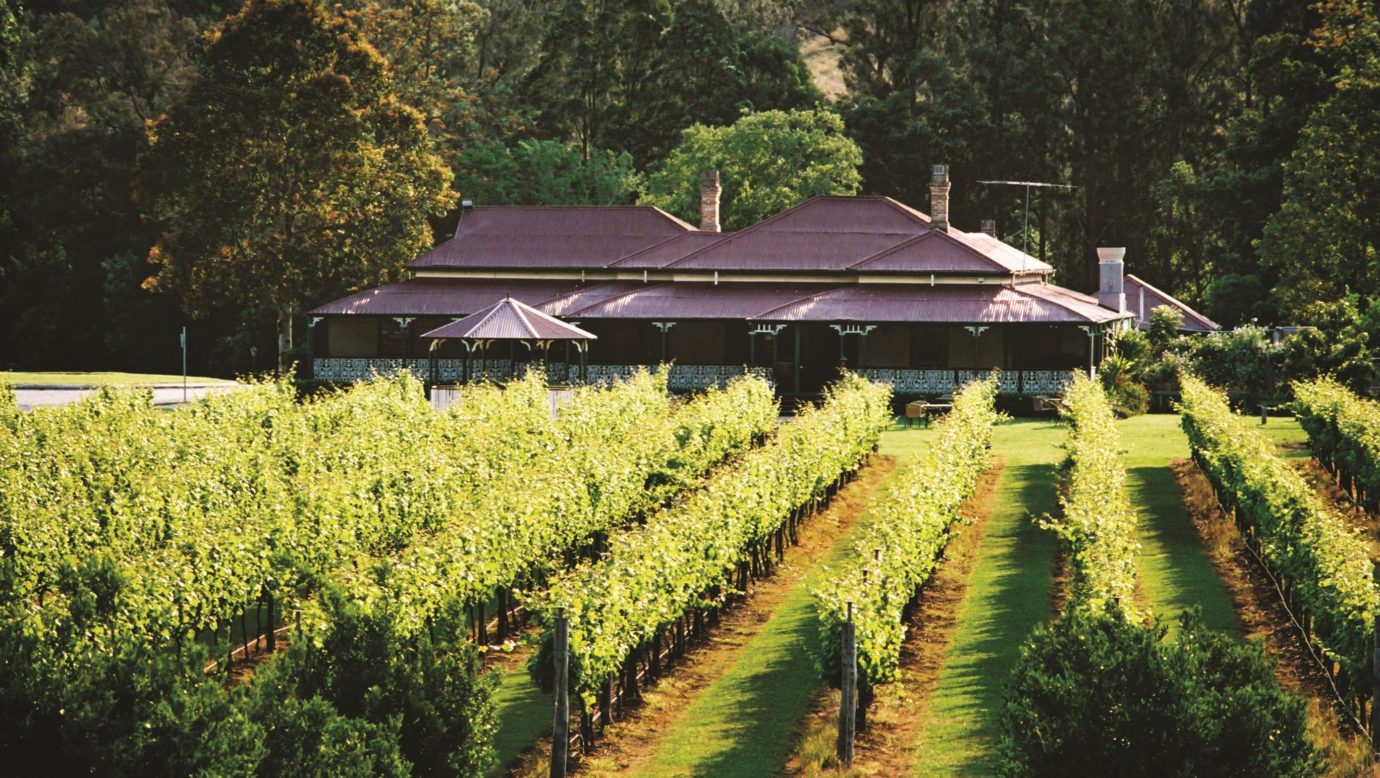
M 580 355 L 580 382 L 584 383 L 585 355 L 589 350 L 589 341 L 596 339 L 593 334 L 573 324 L 566 324 L 512 297 L 505 297 L 464 319 L 425 332 L 422 338 L 428 338 L 432 342 L 429 355 L 433 383 L 437 375 L 436 350 L 448 339 L 460 341 L 465 346 L 465 382 L 471 378 L 469 363 L 475 352 L 479 350 L 480 359 L 487 364 L 489 348 L 498 341 L 508 342 L 509 375 L 512 377 L 516 377 L 513 367 L 519 343 L 529 350 L 534 348 L 541 349 L 542 359 L 545 360 L 551 353 L 551 346 L 556 341 L 564 341 L 574 345 L 575 352 Z

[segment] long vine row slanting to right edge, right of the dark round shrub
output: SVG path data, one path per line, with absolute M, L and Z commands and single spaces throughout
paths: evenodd
M 1368 697 L 1380 595 L 1365 542 L 1329 510 L 1272 443 L 1231 412 L 1227 399 L 1192 375 L 1180 378 L 1183 425 L 1194 461 L 1232 512 L 1304 628 L 1332 662 L 1339 691 Z

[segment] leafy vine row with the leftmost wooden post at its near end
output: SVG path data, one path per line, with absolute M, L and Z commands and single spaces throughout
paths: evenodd
M 556 607 L 569 614 L 573 683 L 586 702 L 683 614 L 718 608 L 733 574 L 792 512 L 867 459 L 890 422 L 889 393 L 846 377 L 766 447 L 551 586 L 540 610 L 548 621 Z M 538 680 L 544 665 L 534 666 Z

